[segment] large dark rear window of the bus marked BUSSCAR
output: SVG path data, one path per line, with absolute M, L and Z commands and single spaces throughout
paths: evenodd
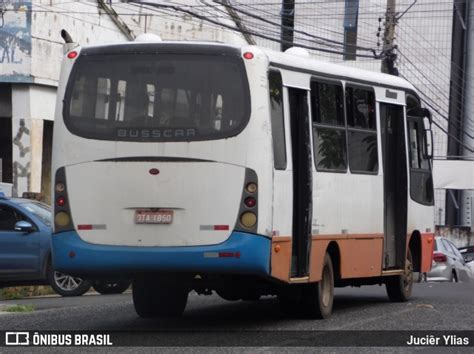
M 237 135 L 250 116 L 238 57 L 189 54 L 81 56 L 64 100 L 76 135 L 114 141 L 195 141 Z

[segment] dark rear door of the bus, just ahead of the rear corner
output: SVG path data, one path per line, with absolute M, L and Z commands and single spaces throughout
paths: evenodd
M 309 274 L 312 171 L 308 91 L 288 88 L 293 161 L 293 242 L 291 276 Z

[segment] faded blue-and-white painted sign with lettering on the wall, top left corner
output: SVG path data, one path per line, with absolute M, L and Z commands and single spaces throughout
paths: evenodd
M 31 81 L 31 0 L 0 4 L 0 82 Z

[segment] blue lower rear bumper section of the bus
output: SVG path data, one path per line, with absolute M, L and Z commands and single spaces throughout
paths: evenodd
M 188 247 L 108 246 L 83 241 L 77 232 L 52 237 L 54 267 L 72 274 L 139 271 L 270 274 L 270 239 L 233 232 L 223 243 Z M 74 252 L 74 257 L 70 253 Z M 225 253 L 219 257 L 218 253 Z M 229 256 L 237 254 L 239 256 Z M 209 255 L 215 255 L 210 257 Z

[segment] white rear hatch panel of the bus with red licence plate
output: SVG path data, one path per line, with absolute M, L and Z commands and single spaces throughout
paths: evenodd
M 117 246 L 225 241 L 238 219 L 244 176 L 243 167 L 214 162 L 95 161 L 66 168 L 68 185 L 88 186 L 68 191 L 76 227 L 100 225 L 79 229 L 79 236 Z M 162 210 L 172 214 L 169 224 L 136 220 L 140 211 Z

